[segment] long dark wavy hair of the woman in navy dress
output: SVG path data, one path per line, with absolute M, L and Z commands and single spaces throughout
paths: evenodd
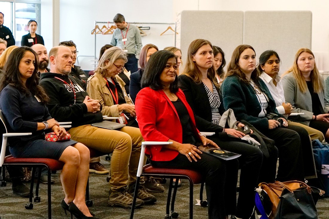
M 24 85 L 19 72 L 19 63 L 26 52 L 33 53 L 36 61 L 34 63 L 32 76 L 26 80 L 26 84 Z M 5 75 L 0 82 L 0 91 L 2 91 L 7 85 L 12 85 L 25 95 L 30 95 L 32 93 L 32 95 L 37 96 L 43 104 L 46 104 L 49 98 L 45 94 L 43 88 L 39 86 L 39 77 L 37 75 L 38 61 L 37 53 L 30 47 L 22 46 L 14 49 L 9 55 L 3 69 Z

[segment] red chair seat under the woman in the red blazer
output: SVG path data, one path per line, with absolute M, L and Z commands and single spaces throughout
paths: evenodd
M 203 182 L 202 175 L 194 170 L 155 168 L 149 166 L 143 170 L 143 173 L 159 174 L 159 175 L 183 175 L 183 176 L 188 176 L 192 180 L 193 184 L 199 184 Z

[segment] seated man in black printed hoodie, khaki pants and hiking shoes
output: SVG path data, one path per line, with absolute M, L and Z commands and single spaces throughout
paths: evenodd
M 68 132 L 73 140 L 104 153 L 113 153 L 108 204 L 131 207 L 133 197 L 126 191 L 126 187 L 127 183 L 132 185 L 136 182 L 143 138 L 140 133 L 127 134 L 132 128 L 128 126 L 120 130 L 108 130 L 90 125 L 103 120 L 101 105 L 98 100 L 88 96 L 79 80 L 68 76 L 72 58 L 71 50 L 65 46 L 56 46 L 49 52 L 50 72 L 42 73 L 39 82 L 50 98 L 47 104 L 49 113 L 59 122 L 72 122 Z M 138 197 L 142 199 L 138 199 L 138 206 L 156 201 L 142 186 Z

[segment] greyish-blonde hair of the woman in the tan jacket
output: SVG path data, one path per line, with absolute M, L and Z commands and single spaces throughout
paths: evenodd
M 98 62 L 98 66 L 95 70 L 95 74 L 101 74 L 102 77 L 106 77 L 107 75 L 107 69 L 113 65 L 114 61 L 118 59 L 123 59 L 125 63 L 128 61 L 126 54 L 123 52 L 123 50 L 117 46 L 114 46 L 110 49 L 107 49 L 104 54 L 102 55 L 101 59 Z M 105 62 L 109 61 L 108 64 Z

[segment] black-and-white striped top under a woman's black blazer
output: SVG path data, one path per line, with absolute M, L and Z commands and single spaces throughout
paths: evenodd
M 207 85 L 205 85 L 203 83 L 203 86 L 206 89 L 208 98 L 209 98 L 209 103 L 210 103 L 210 108 L 211 108 L 211 113 L 212 113 L 212 123 L 219 125 L 219 121 L 221 118 L 221 115 L 219 113 L 219 106 L 220 106 L 220 99 L 219 99 L 219 95 L 217 92 L 217 89 L 214 85 L 214 83 L 212 83 L 213 85 L 213 92 L 211 92 L 211 90 L 207 87 Z

